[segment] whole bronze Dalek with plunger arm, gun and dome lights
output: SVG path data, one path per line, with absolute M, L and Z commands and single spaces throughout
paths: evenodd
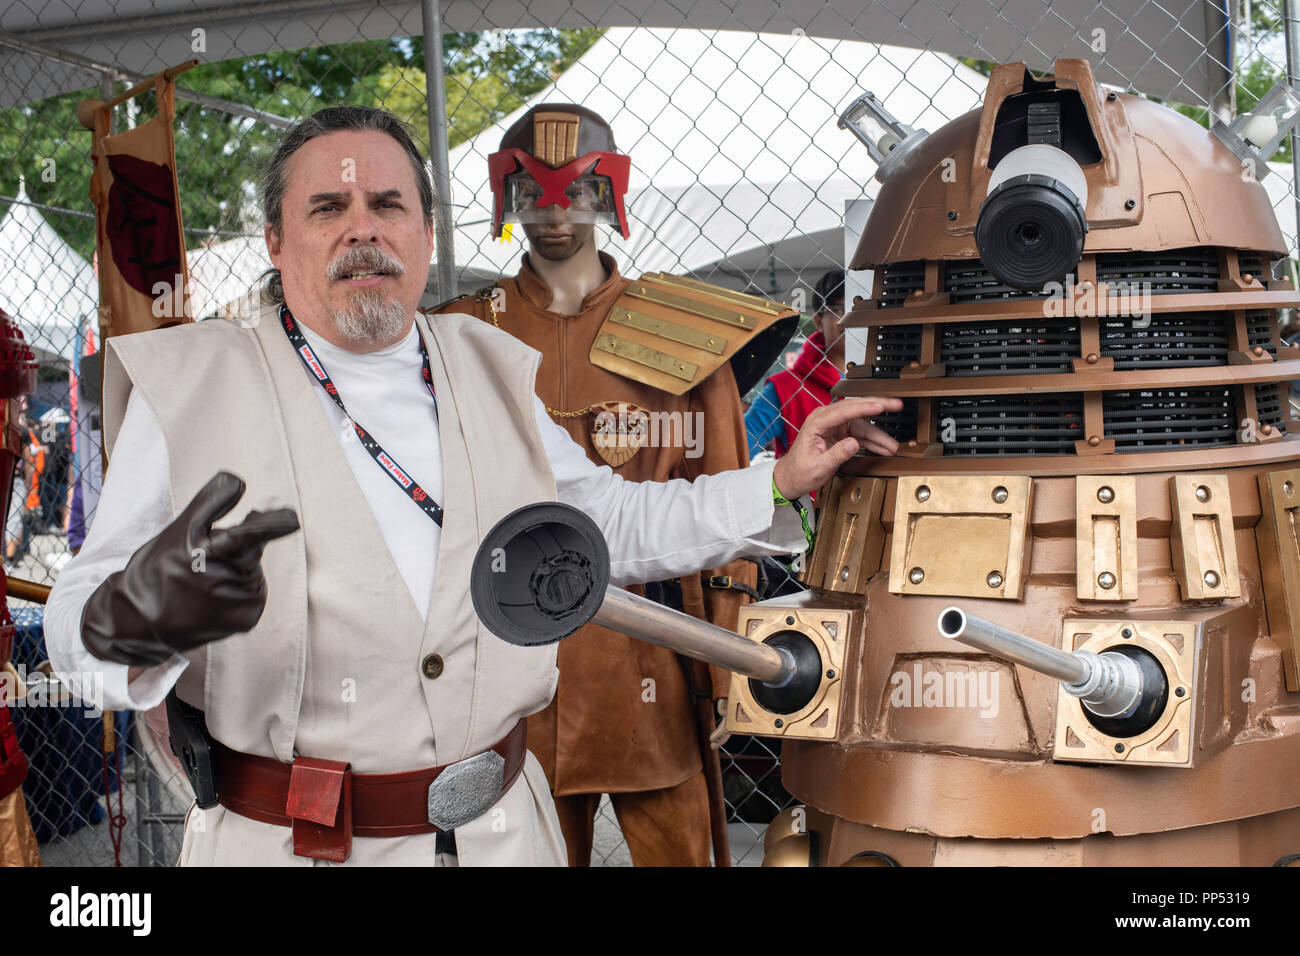
M 1297 120 L 1278 86 L 1206 130 L 1084 60 L 1000 66 L 933 133 L 861 96 L 874 290 L 835 392 L 901 398 L 901 447 L 818 494 L 809 589 L 724 631 L 610 587 L 546 505 L 484 540 L 480 617 L 729 667 L 727 730 L 780 740 L 802 804 L 764 866 L 1296 865 L 1300 297 L 1258 178 Z

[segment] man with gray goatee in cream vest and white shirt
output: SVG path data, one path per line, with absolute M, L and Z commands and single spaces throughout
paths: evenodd
M 625 483 L 547 419 L 536 351 L 416 313 L 433 196 L 394 117 L 307 118 L 263 202 L 277 273 L 257 315 L 108 342 L 110 467 L 47 606 L 55 669 L 103 671 L 105 708 L 174 688 L 205 805 L 182 864 L 563 865 L 523 739 L 555 648 L 480 624 L 481 537 L 558 498 L 601 527 L 615 583 L 788 553 L 803 532 L 774 489 L 794 499 L 861 449 L 892 453 L 863 420 L 892 406 L 826 410 L 775 471 Z M 495 778 L 443 777 L 488 752 Z

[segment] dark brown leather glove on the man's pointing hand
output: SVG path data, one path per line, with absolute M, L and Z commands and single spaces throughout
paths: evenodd
M 250 511 L 233 528 L 212 523 L 243 497 L 217 472 L 157 537 L 109 575 L 82 610 L 82 644 L 101 661 L 156 665 L 172 652 L 248 631 L 266 606 L 261 551 L 298 531 L 292 509 Z

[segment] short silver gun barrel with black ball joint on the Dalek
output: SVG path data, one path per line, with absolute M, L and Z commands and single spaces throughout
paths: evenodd
M 1093 726 L 1110 736 L 1141 734 L 1160 717 L 1169 698 L 1165 669 L 1141 648 L 1115 646 L 1100 654 L 1057 650 L 961 607 L 940 613 L 939 632 L 1056 678 L 1066 693 L 1079 697 Z

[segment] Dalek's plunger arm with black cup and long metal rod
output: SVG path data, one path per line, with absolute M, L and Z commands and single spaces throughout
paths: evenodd
M 469 594 L 480 620 L 517 646 L 555 644 L 588 622 L 750 678 L 790 711 L 822 683 L 822 657 L 796 632 L 757 643 L 610 583 L 595 523 L 568 505 L 506 515 L 474 554 Z

